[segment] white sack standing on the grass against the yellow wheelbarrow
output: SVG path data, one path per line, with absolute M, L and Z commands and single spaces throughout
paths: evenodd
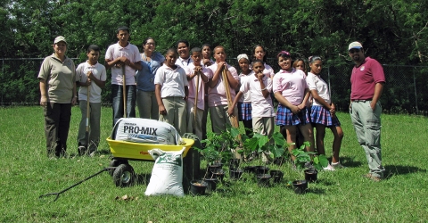
M 152 177 L 145 190 L 145 195 L 173 194 L 184 196 L 183 191 L 183 152 L 164 152 L 160 149 L 152 149 L 148 152 L 154 159 Z

